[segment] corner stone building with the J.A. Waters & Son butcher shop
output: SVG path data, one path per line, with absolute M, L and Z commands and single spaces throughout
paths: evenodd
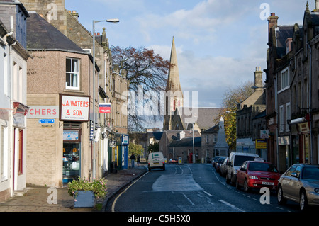
M 27 183 L 62 187 L 77 176 L 90 178 L 92 79 L 97 82 L 99 68 L 93 76 L 91 55 L 35 12 L 28 21 L 27 49 L 32 55 Z

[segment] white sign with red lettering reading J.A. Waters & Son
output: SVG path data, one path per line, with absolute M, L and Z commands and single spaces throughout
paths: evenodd
M 60 120 L 88 121 L 89 96 L 66 96 L 60 94 Z

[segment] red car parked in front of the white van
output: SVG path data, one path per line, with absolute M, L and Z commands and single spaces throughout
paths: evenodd
M 280 176 L 276 166 L 270 162 L 246 161 L 237 171 L 236 187 L 243 186 L 244 191 L 262 187 L 275 190 Z

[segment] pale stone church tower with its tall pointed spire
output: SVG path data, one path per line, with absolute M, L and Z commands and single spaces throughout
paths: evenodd
M 166 94 L 165 94 L 165 115 L 164 130 L 172 130 L 172 116 L 177 107 L 183 107 L 183 91 L 181 91 L 181 83 L 179 81 L 179 67 L 177 64 L 177 53 L 175 41 L 173 37 L 172 50 L 170 58 L 171 67 L 167 78 Z

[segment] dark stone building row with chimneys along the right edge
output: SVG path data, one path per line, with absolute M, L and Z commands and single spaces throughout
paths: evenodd
M 269 161 L 280 171 L 298 162 L 318 163 L 319 1 L 303 24 L 279 26 L 272 13 L 267 51 Z

